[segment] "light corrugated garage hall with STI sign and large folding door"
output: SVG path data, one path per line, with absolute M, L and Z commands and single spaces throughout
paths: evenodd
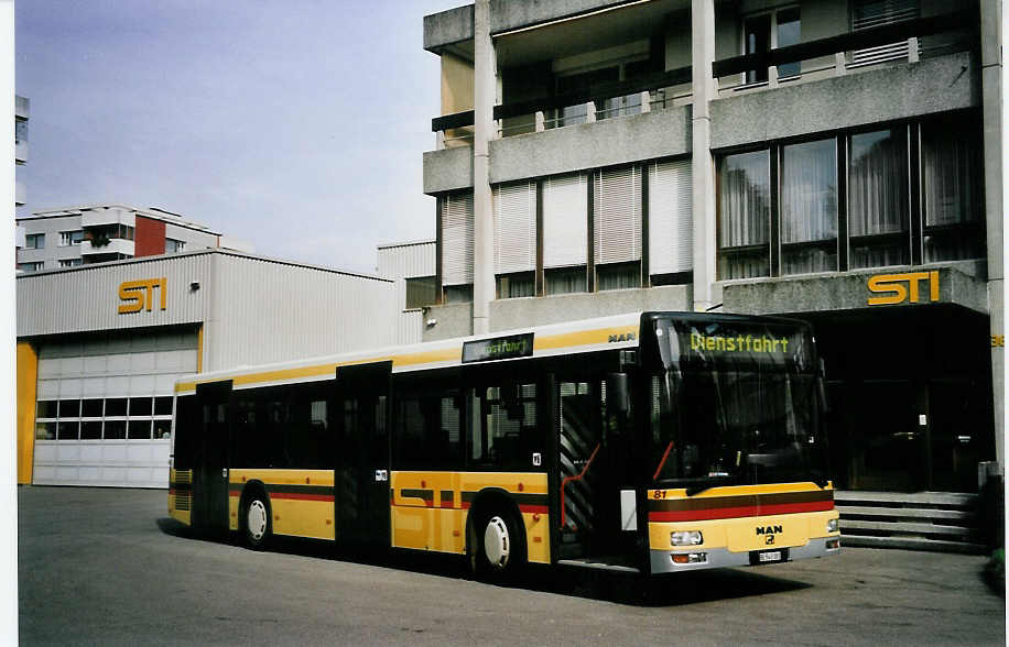
M 166 486 L 176 376 L 391 346 L 401 309 L 390 279 L 221 249 L 17 295 L 18 482 L 64 485 Z

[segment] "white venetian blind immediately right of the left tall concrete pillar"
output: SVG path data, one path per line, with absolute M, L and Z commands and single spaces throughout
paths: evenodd
M 536 268 L 536 184 L 493 187 L 495 274 Z

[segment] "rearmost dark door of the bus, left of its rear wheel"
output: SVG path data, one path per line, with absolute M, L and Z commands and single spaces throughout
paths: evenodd
M 228 441 L 231 381 L 196 385 L 193 439 L 193 525 L 228 528 Z

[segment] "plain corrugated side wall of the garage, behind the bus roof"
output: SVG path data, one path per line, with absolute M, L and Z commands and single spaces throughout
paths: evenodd
M 390 281 L 214 254 L 206 371 L 391 346 Z

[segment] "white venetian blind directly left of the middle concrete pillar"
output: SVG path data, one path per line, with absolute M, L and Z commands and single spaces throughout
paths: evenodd
M 690 272 L 694 230 L 691 161 L 648 167 L 648 250 L 651 274 Z

